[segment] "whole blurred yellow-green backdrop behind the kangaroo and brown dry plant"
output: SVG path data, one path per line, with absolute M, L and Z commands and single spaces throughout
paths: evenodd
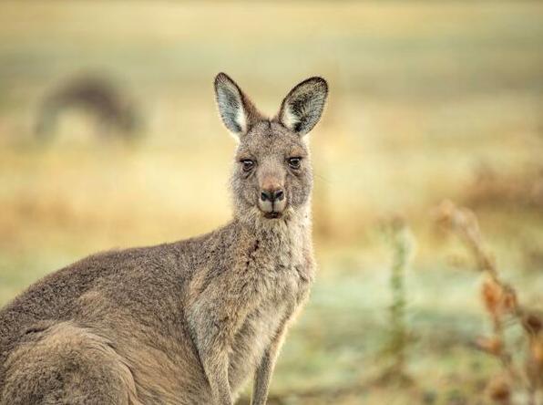
M 481 343 L 480 260 L 435 219 L 472 210 L 543 310 L 539 2 L 0 3 L 0 305 L 84 255 L 230 219 L 220 71 L 269 114 L 304 78 L 331 88 L 310 135 L 318 277 L 271 403 L 536 403 L 543 368 L 513 381 Z M 522 346 L 539 329 L 504 322 L 519 372 L 543 362 Z

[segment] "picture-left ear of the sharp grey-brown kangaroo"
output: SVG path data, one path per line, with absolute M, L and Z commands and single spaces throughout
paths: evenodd
M 241 88 L 228 75 L 219 73 L 215 78 L 215 98 L 220 118 L 228 130 L 240 137 L 246 134 L 261 114 L 243 94 Z

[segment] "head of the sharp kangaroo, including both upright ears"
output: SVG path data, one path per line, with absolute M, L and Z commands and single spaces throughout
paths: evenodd
M 264 117 L 227 75 L 215 78 L 224 125 L 239 140 L 232 175 L 235 215 L 287 219 L 309 202 L 312 167 L 305 136 L 321 118 L 328 94 L 323 78 L 308 78 Z

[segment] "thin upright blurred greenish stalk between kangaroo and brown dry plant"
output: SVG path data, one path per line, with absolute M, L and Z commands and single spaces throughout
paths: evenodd
M 411 342 L 411 334 L 405 320 L 407 296 L 405 291 L 405 272 L 414 255 L 415 239 L 405 221 L 394 218 L 383 228 L 386 241 L 393 252 L 393 263 L 390 274 L 392 305 L 390 306 L 389 339 L 383 354 L 392 358 L 391 366 L 385 370 L 384 382 L 409 383 L 411 379 L 405 370 L 406 351 Z

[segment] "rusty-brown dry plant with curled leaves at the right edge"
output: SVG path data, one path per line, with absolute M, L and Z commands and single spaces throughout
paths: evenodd
M 476 346 L 498 358 L 504 369 L 504 374 L 488 384 L 490 398 L 511 404 L 513 393 L 524 390 L 528 405 L 537 405 L 538 394 L 543 390 L 543 317 L 537 310 L 521 306 L 517 291 L 500 278 L 496 261 L 484 245 L 475 213 L 445 201 L 440 204 L 436 219 L 466 245 L 484 277 L 481 298 L 492 322 L 493 335 L 479 338 Z M 526 337 L 527 360 L 523 365 L 515 364 L 513 351 L 504 337 L 506 328 L 515 324 L 522 326 Z

